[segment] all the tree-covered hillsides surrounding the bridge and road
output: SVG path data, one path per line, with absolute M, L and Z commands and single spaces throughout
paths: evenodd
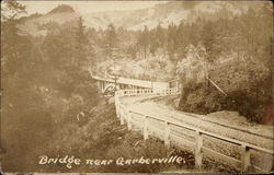
M 219 11 L 199 13 L 198 8 L 204 3 L 185 2 L 183 9 L 190 15 L 184 19 L 167 22 L 164 18 L 165 23 L 161 24 L 159 18 L 153 22 L 156 25 L 149 25 L 149 20 L 135 21 L 133 28 L 115 23 L 105 28 L 92 27 L 89 18 L 66 5 L 48 14 L 20 18 L 24 7 L 14 1 L 7 3 L 1 10 L 12 14 L 1 12 L 1 115 L 5 116 L 2 126 L 9 127 L 3 128 L 1 139 L 7 142 L 5 148 L 12 150 L 5 154 L 7 160 L 13 160 L 5 162 L 8 168 L 27 171 L 32 167 L 27 162 L 45 150 L 54 154 L 64 148 L 69 153 L 79 151 L 83 155 L 119 137 L 128 137 L 122 128 L 110 127 L 111 121 L 116 122 L 113 106 L 99 114 L 103 110 L 100 105 L 106 102 L 90 79 L 91 74 L 153 81 L 180 79 L 181 110 L 207 114 L 228 109 L 260 124 L 272 119 L 273 7 L 269 2 L 244 5 L 244 10 L 238 9 L 239 13 L 231 11 L 233 3 L 220 5 Z M 179 4 L 169 3 L 171 8 Z M 171 13 L 179 9 L 178 8 Z M 153 8 L 159 10 L 161 7 Z M 162 12 L 163 16 L 174 19 L 171 13 Z M 199 15 L 191 15 L 194 13 Z M 85 117 L 79 120 L 76 116 L 80 113 Z M 112 118 L 105 124 L 110 128 L 105 129 L 114 132 L 114 138 L 102 133 L 100 128 L 91 128 L 94 122 L 101 122 L 102 117 Z M 90 136 L 91 132 L 96 135 Z M 75 140 L 64 136 L 73 136 Z M 130 137 L 128 140 L 127 144 L 132 144 Z M 78 150 L 81 143 L 84 149 Z M 158 145 L 157 141 L 153 143 Z M 115 147 L 123 145 L 117 141 Z M 116 156 L 115 148 L 105 149 L 106 152 L 100 153 Z M 163 153 L 169 151 L 161 149 Z M 134 151 L 127 156 L 133 156 Z M 147 151 L 155 155 L 153 148 Z M 90 156 L 100 156 L 100 153 Z M 145 167 L 142 172 L 159 168 Z

